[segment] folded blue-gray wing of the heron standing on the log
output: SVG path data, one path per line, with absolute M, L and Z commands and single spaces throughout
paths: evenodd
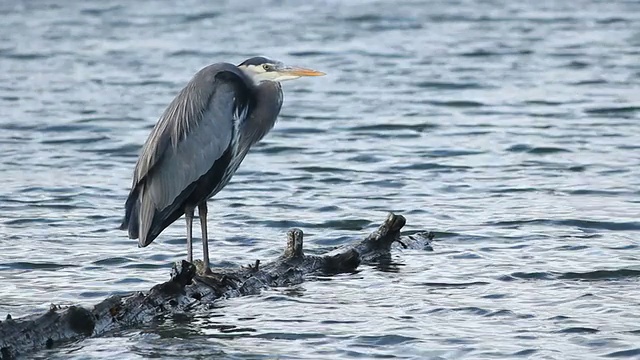
M 251 89 L 247 84 L 244 74 L 231 64 L 208 66 L 161 116 L 136 164 L 127 200 L 129 214 L 123 222 L 140 245 L 148 245 L 157 236 L 148 236 L 152 223 L 159 220 L 154 217 L 170 215 L 172 211 L 164 210 L 175 206 L 176 199 L 184 197 L 185 190 L 231 146 L 235 124 L 249 113 Z

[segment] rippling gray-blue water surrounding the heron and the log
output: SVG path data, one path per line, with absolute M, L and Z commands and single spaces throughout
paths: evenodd
M 254 55 L 328 75 L 283 84 L 211 202 L 214 266 L 387 211 L 434 251 L 38 358 L 640 358 L 640 3 L 177 3 L 0 3 L 0 317 L 168 278 L 182 220 L 116 230 L 137 154 L 197 70 Z

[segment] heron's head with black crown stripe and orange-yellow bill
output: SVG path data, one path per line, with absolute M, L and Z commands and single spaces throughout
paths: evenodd
M 323 72 L 296 66 L 286 66 L 280 61 L 262 56 L 252 57 L 238 65 L 255 83 L 263 81 L 287 81 L 302 76 L 322 76 Z

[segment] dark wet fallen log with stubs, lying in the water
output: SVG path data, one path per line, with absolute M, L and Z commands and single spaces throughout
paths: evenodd
M 174 265 L 171 279 L 128 296 L 111 296 L 92 309 L 80 306 L 51 306 L 45 314 L 11 319 L 0 323 L 0 359 L 15 359 L 40 349 L 85 337 L 151 323 L 162 316 L 175 316 L 211 308 L 218 299 L 257 294 L 268 287 L 301 283 L 314 274 L 355 271 L 364 262 L 388 256 L 394 242 L 402 247 L 424 248 L 432 234 L 400 238 L 405 225 L 401 215 L 389 214 L 385 222 L 364 240 L 324 255 L 305 255 L 303 233 L 289 230 L 283 255 L 262 265 L 205 272 L 202 262 L 182 261 Z

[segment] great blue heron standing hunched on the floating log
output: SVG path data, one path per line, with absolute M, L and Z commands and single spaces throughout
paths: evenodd
M 183 214 L 187 261 L 198 208 L 203 262 L 209 269 L 207 200 L 227 185 L 249 148 L 273 128 L 281 81 L 324 75 L 253 57 L 198 71 L 164 111 L 138 158 L 120 229 L 145 247 Z

